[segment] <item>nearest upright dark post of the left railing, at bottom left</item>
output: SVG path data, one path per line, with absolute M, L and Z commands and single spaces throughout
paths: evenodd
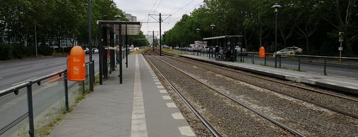
M 27 105 L 29 108 L 29 134 L 31 137 L 35 136 L 35 128 L 34 128 L 34 113 L 32 106 L 32 82 L 27 86 Z

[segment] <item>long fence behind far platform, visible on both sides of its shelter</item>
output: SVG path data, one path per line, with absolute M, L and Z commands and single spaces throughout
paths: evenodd
M 203 57 L 209 57 L 210 55 L 210 58 L 215 58 L 213 51 L 210 53 L 200 51 L 189 54 Z M 260 58 L 258 52 L 244 52 L 234 55 L 236 55 L 236 57 L 234 56 L 236 58 L 234 61 L 239 62 L 358 79 L 358 74 L 356 73 L 358 72 L 358 58 L 288 54 L 277 54 L 276 57 L 272 53 L 266 53 L 264 58 Z M 346 72 L 346 74 L 342 74 L 342 72 Z

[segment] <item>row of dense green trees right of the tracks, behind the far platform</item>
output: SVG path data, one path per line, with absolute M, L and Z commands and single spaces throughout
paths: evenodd
M 198 37 L 242 35 L 244 48 L 275 52 L 275 3 L 278 49 L 300 47 L 308 55 L 338 55 L 339 32 L 344 32 L 343 53 L 358 53 L 357 0 L 204 0 L 191 15 L 183 15 L 164 33 L 163 42 L 187 47 Z M 212 29 L 210 25 L 214 24 Z M 199 28 L 198 33 L 196 29 Z

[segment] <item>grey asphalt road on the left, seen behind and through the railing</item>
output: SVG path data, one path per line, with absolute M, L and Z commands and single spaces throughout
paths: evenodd
M 98 54 L 93 54 L 95 61 L 95 72 L 99 70 Z M 89 62 L 89 55 L 86 55 L 86 62 Z M 35 59 L 23 59 L 2 61 L 0 64 L 0 90 L 10 88 L 27 80 L 43 77 L 67 68 L 67 56 L 44 57 Z M 58 115 L 58 108 L 64 105 L 64 82 L 60 77 L 53 77 L 41 82 L 41 85 L 32 85 L 33 112 L 35 123 L 49 124 L 44 122 Z M 68 81 L 72 85 L 73 81 Z M 78 84 L 76 84 L 76 87 Z M 69 96 L 72 101 L 76 94 L 74 88 L 69 89 Z M 57 110 L 54 110 L 57 109 Z M 12 127 L 0 136 L 14 136 L 15 132 L 27 132 L 28 102 L 26 88 L 19 90 L 18 95 L 8 94 L 0 97 L 0 129 L 13 121 L 19 121 L 19 124 Z M 25 117 L 23 117 L 25 116 Z M 0 130 L 1 131 L 1 130 Z M 3 130 L 4 131 L 4 130 Z

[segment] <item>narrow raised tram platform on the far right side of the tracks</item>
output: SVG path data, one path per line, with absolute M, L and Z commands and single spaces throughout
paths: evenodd
M 215 58 L 208 58 L 205 56 L 195 55 L 179 55 L 180 57 L 190 58 L 194 60 L 200 60 L 208 63 L 230 66 L 235 69 L 257 73 L 261 75 L 276 77 L 280 79 L 286 79 L 290 81 L 301 82 L 305 84 L 316 85 L 334 90 L 340 90 L 341 92 L 358 94 L 358 80 L 353 78 L 343 78 L 336 76 L 327 76 L 320 74 L 313 74 L 308 72 L 299 72 L 294 70 L 280 69 L 271 66 L 243 63 L 240 61 L 220 61 Z

